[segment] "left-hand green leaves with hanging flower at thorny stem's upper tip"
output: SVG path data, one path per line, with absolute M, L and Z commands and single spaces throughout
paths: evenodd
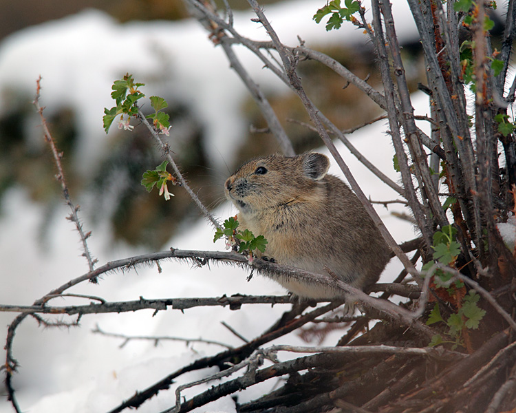
M 128 116 L 136 116 L 138 108 L 135 103 L 138 99 L 145 95 L 138 90 L 139 87 L 144 86 L 144 83 L 135 83 L 132 74 L 125 74 L 120 81 L 114 81 L 111 89 L 111 98 L 114 98 L 116 106 L 111 109 L 104 108 L 104 129 L 107 133 L 109 127 L 115 120 L 116 116 L 127 114 Z

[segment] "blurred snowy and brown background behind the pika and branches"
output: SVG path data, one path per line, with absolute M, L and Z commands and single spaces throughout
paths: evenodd
M 266 40 L 263 28 L 243 0 L 229 1 L 235 9 L 235 28 L 244 36 Z M 374 54 L 366 36 L 350 24 L 326 32 L 312 16 L 325 1 L 260 1 L 280 39 L 330 54 L 369 84 L 381 89 Z M 418 36 L 406 18 L 404 1 L 394 1 L 398 36 L 403 45 L 410 86 L 424 83 L 424 62 Z M 223 8 L 222 1 L 219 6 Z M 122 257 L 176 248 L 222 249 L 213 244 L 213 229 L 186 192 L 169 188 L 175 197 L 165 202 L 157 191 L 140 185 L 142 173 L 162 162 L 147 129 L 132 124 L 131 132 L 103 130 L 103 109 L 114 105 L 111 85 L 127 72 L 145 83 L 147 96 L 164 97 L 172 129 L 168 139 L 174 158 L 200 199 L 217 218 L 235 210 L 224 201 L 222 184 L 234 169 L 252 156 L 279 151 L 275 138 L 260 131 L 264 118 L 237 75 L 230 70 L 221 48 L 208 39 L 202 25 L 189 17 L 179 0 L 86 0 L 81 2 L 0 0 L 0 304 L 30 305 L 69 279 L 87 272 L 78 235 L 65 220 L 65 207 L 56 168 L 43 140 L 41 120 L 32 100 L 36 79 L 42 76 L 41 105 L 59 150 L 63 151 L 65 178 L 73 202 L 80 204 L 85 231 L 93 231 L 89 246 L 99 264 Z M 499 21 L 499 19 L 496 19 Z M 495 28 L 499 30 L 499 26 Z M 299 100 L 244 47 L 235 52 L 259 83 L 292 139 L 297 152 L 320 148 L 319 137 L 308 122 Z M 358 89 L 312 61 L 299 65 L 303 85 L 314 103 L 341 129 L 357 127 L 381 112 Z M 149 110 L 148 100 L 142 109 Z M 418 114 L 428 113 L 424 94 L 413 96 Z M 427 127 L 427 125 L 421 125 Z M 391 179 L 392 149 L 387 125 L 378 122 L 350 135 L 353 144 Z M 350 153 L 339 148 L 345 161 L 373 200 L 396 198 Z M 318 149 L 323 150 L 323 149 Z M 332 173 L 338 174 L 335 167 Z M 391 215 L 400 205 L 378 207 L 381 218 L 398 242 L 415 234 L 410 222 Z M 284 294 L 264 277 L 246 282 L 241 268 L 193 270 L 189 264 L 164 262 L 156 268 L 138 268 L 105 275 L 98 286 L 80 284 L 70 292 L 97 295 L 107 300 L 151 297 L 213 297 L 223 294 Z M 382 281 L 395 277 L 398 262 L 391 262 Z M 59 299 L 51 304 L 87 304 L 80 299 Z M 93 335 L 100 324 L 110 332 L 133 335 L 182 335 L 217 339 L 230 345 L 240 341 L 219 324 L 255 337 L 281 315 L 285 307 L 253 306 L 252 314 L 225 308 L 188 310 L 184 314 L 141 311 L 125 315 L 83 317 L 81 328 L 44 329 L 28 319 L 17 330 L 14 355 L 21 368 L 14 377 L 23 410 L 99 412 L 114 408 L 136 390 L 150 385 L 171 370 L 219 348 L 199 343 L 133 342 Z M 178 314 L 176 314 L 178 313 Z M 15 317 L 0 313 L 0 337 Z M 74 321 L 74 319 L 64 319 Z M 340 332 L 326 337 L 332 344 Z M 297 335 L 285 343 L 305 344 Z M 281 341 L 280 341 L 281 342 Z M 3 346 L 1 346 L 3 348 Z M 3 357 L 3 354 L 1 354 Z M 272 385 L 252 392 L 266 392 Z M 269 386 L 269 388 L 267 387 Z M 261 390 L 260 390 L 261 389 Z M 3 388 L 1 395 L 5 395 Z M 219 410 L 234 411 L 234 402 Z M 142 412 L 170 407 L 173 392 L 160 393 Z M 215 407 L 214 407 L 215 408 Z M 233 409 L 233 410 L 232 410 Z M 3 399 L 0 411 L 12 407 Z

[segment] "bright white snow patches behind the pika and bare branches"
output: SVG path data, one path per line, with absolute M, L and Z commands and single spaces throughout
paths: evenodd
M 407 13 L 406 5 L 394 2 L 396 15 Z M 405 7 L 405 11 L 403 8 Z M 266 13 L 283 41 L 297 43 L 299 34 L 308 45 L 321 43 L 338 44 L 363 42 L 360 31 L 351 25 L 343 25 L 338 32 L 325 32 L 323 25 L 316 25 L 311 17 L 316 10 L 313 1 L 294 1 L 268 6 Z M 266 39 L 263 29 L 251 23 L 250 12 L 235 14 L 237 28 L 254 39 Z M 408 19 L 405 19 L 408 20 Z M 408 36 L 413 28 L 402 25 L 402 36 Z M 275 80 L 253 56 L 239 48 L 250 74 L 266 90 L 281 92 L 286 87 Z M 75 154 L 79 169 L 87 171 L 94 167 L 100 153 L 107 145 L 103 137 L 101 117 L 103 107 L 111 107 L 109 97 L 111 83 L 125 72 L 133 73 L 147 83 L 147 94 L 166 90 L 181 96 L 195 108 L 210 140 L 208 148 L 213 153 L 224 152 L 226 160 L 235 148 L 239 136 L 248 125 L 240 114 L 241 102 L 246 90 L 237 76 L 229 69 L 222 50 L 208 41 L 206 32 L 196 21 L 129 23 L 120 25 L 106 14 L 88 10 L 76 16 L 52 21 L 12 35 L 0 45 L 0 112 L 9 111 L 12 101 L 10 89 L 16 88 L 30 98 L 34 94 L 36 78 L 43 76 L 42 103 L 47 111 L 67 104 L 80 114 L 80 146 Z M 418 114 L 427 113 L 427 99 L 414 97 Z M 385 135 L 386 125 L 376 123 L 354 134 L 352 142 L 369 160 L 396 180 L 391 165 L 391 143 Z M 129 133 L 129 132 L 127 132 Z M 41 129 L 34 128 L 34 139 L 39 139 Z M 366 195 L 374 200 L 391 200 L 396 194 L 372 176 L 343 145 L 338 145 L 345 161 Z M 374 150 L 372 150 L 374 148 Z M 323 150 L 324 151 L 324 150 Z M 213 156 L 214 167 L 217 159 Z M 333 166 L 330 172 L 341 175 Z M 87 204 L 87 200 L 72 194 L 74 202 Z M 36 236 L 43 211 L 34 204 L 21 188 L 14 188 L 4 198 L 0 216 L 0 289 L 1 304 L 32 304 L 52 288 L 87 272 L 83 257 L 80 257 L 78 236 L 72 224 L 65 220 L 69 213 L 59 207 L 56 215 L 63 219 L 52 225 L 47 244 L 41 245 Z M 173 200 L 169 201 L 173 202 Z M 393 218 L 391 210 L 378 207 L 380 216 L 396 240 L 402 242 L 414 236 L 411 225 Z M 215 214 L 219 217 L 234 215 L 229 204 L 222 204 Z M 85 215 L 83 215 L 85 218 Z M 86 230 L 93 230 L 89 240 L 92 253 L 99 263 L 138 255 L 150 251 L 131 248 L 121 243 L 114 244 L 109 228 L 104 222 L 95 227 L 85 222 Z M 213 244 L 213 229 L 200 220 L 188 231 L 170 240 L 176 248 L 222 249 L 224 244 Z M 163 262 L 162 273 L 155 267 L 142 267 L 127 273 L 112 273 L 103 276 L 100 284 L 82 284 L 70 293 L 96 295 L 109 301 L 122 301 L 164 297 L 215 297 L 217 295 L 283 294 L 274 282 L 255 276 L 246 282 L 245 271 L 227 266 L 191 268 L 189 264 Z M 397 275 L 400 264 L 393 260 L 380 281 Z M 58 299 L 52 304 L 84 301 Z M 199 357 L 214 354 L 221 348 L 202 343 L 161 341 L 131 341 L 118 348 L 120 339 L 92 334 L 92 328 L 100 326 L 108 332 L 126 335 L 170 335 L 185 338 L 200 338 L 239 345 L 220 321 L 226 321 L 241 335 L 252 339 L 272 324 L 287 306 L 244 306 L 239 311 L 228 308 L 193 308 L 181 313 L 177 310 L 160 311 L 153 317 L 152 310 L 121 315 L 85 315 L 80 328 L 70 330 L 42 329 L 35 321 L 27 319 L 17 330 L 14 341 L 14 356 L 21 363 L 14 386 L 22 410 L 30 412 L 102 412 L 110 410 L 166 374 Z M 0 324 L 6 326 L 14 318 L 9 313 L 0 313 Z M 327 344 L 335 342 L 340 334 L 327 337 Z M 0 337 L 6 329 L 0 329 Z M 277 343 L 303 343 L 291 334 Z M 2 356 L 3 357 L 3 356 Z M 180 382 L 193 381 L 208 374 L 206 371 L 187 374 Z M 275 383 L 266 382 L 242 395 L 251 399 L 253 394 L 266 391 Z M 206 386 L 207 387 L 207 386 Z M 264 390 L 265 389 L 265 390 Z M 195 392 L 199 388 L 194 389 Z M 186 395 L 193 390 L 186 391 Z M 141 412 L 157 412 L 170 407 L 174 401 L 173 388 L 160 392 L 158 397 L 145 403 Z M 213 411 L 233 412 L 230 398 L 208 406 Z M 0 402 L 0 412 L 10 412 L 12 407 Z M 206 411 L 206 408 L 203 408 Z

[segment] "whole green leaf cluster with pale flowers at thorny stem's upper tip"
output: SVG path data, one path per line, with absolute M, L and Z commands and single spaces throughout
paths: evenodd
M 116 116 L 120 115 L 120 123 L 124 125 L 124 129 L 131 130 L 133 127 L 129 126 L 129 120 L 123 121 L 124 115 L 138 116 L 138 106 L 136 102 L 143 98 L 145 95 L 138 90 L 144 86 L 144 83 L 136 83 L 133 79 L 132 74 L 125 74 L 120 81 L 114 81 L 111 89 L 111 98 L 114 98 L 116 106 L 111 109 L 104 108 L 103 123 L 106 133 L 109 131 L 109 127 L 114 122 Z M 147 115 L 147 118 L 152 119 L 153 125 L 160 131 L 161 134 L 169 135 L 170 123 L 169 115 L 160 110 L 165 109 L 169 106 L 164 98 L 159 96 L 151 96 L 151 107 L 154 109 L 154 113 Z

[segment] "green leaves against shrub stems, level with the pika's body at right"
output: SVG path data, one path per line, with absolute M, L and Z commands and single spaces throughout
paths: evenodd
M 445 202 L 446 204 L 446 202 Z M 444 207 L 444 206 L 443 206 Z M 455 264 L 458 255 L 460 254 L 460 244 L 455 241 L 455 237 L 457 236 L 457 229 L 455 229 L 451 225 L 446 225 L 442 227 L 442 231 L 436 231 L 433 234 L 433 260 L 436 260 L 440 264 L 444 265 L 452 265 Z M 427 262 L 422 267 L 423 271 L 431 271 L 433 267 L 433 262 Z M 438 288 L 447 288 L 449 294 L 453 294 L 455 292 L 455 288 L 462 288 L 464 283 L 461 281 L 456 281 L 454 286 L 448 286 L 447 282 L 453 275 L 450 273 L 444 273 L 440 269 L 437 269 L 434 273 L 433 279 Z

